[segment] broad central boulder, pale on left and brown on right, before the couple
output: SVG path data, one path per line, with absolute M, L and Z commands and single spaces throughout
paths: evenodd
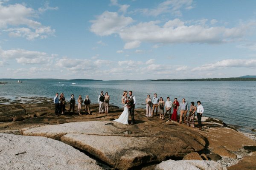
M 204 149 L 204 138 L 197 132 L 170 126 L 159 133 L 145 133 L 138 128 L 113 121 L 90 121 L 37 127 L 23 131 L 23 135 L 58 139 L 117 169 L 169 157 L 182 159 L 188 153 Z

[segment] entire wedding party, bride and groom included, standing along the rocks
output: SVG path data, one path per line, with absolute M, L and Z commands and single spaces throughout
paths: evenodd
M 129 95 L 129 96 L 128 96 Z M 60 101 L 59 101 L 60 100 Z M 109 100 L 110 96 L 108 95 L 108 92 L 105 93 L 101 91 L 101 94 L 98 97 L 98 102 L 99 102 L 99 114 L 101 113 L 106 113 L 108 115 L 108 108 L 109 108 Z M 55 115 L 59 116 L 60 114 L 64 114 L 65 111 L 65 106 L 67 104 L 64 94 L 61 93 L 60 97 L 58 98 L 58 93 L 56 93 L 56 96 L 53 99 L 54 104 L 55 104 Z M 83 100 L 82 96 L 79 95 L 79 98 L 77 100 L 78 102 L 78 108 L 77 111 L 79 115 L 81 115 L 81 107 L 82 104 L 84 103 L 85 106 L 85 111 L 88 114 L 91 114 L 90 112 L 90 98 L 88 95 L 86 95 L 86 98 Z M 135 123 L 134 119 L 134 108 L 136 104 L 136 97 L 132 94 L 132 91 L 124 91 L 122 95 L 122 104 L 124 107 L 124 111 L 122 114 L 119 116 L 118 119 L 115 119 L 114 121 L 122 123 L 122 124 L 129 124 L 128 119 L 129 119 L 129 114 L 131 115 L 131 125 Z M 191 102 L 191 105 L 189 107 L 189 104 L 186 102 L 186 99 L 182 99 L 182 102 L 178 102 L 177 98 L 174 99 L 172 102 L 170 100 L 170 97 L 168 96 L 166 98 L 166 101 L 163 100 L 163 97 L 157 97 L 157 94 L 154 94 L 154 97 L 151 99 L 150 95 L 147 95 L 147 98 L 145 100 L 146 103 L 146 114 L 145 116 L 147 117 L 154 117 L 157 116 L 157 113 L 160 115 L 160 119 L 164 119 L 167 114 L 169 114 L 169 121 L 173 122 L 178 122 L 178 109 L 180 109 L 180 118 L 179 118 L 179 124 L 183 122 L 187 124 L 188 126 L 195 127 L 195 114 L 197 114 L 198 118 L 198 125 L 199 125 L 199 130 L 202 129 L 202 124 L 201 124 L 201 117 L 202 114 L 204 113 L 204 107 L 201 105 L 200 101 L 197 101 L 197 107 L 195 106 L 195 102 Z M 69 113 L 72 110 L 73 113 L 75 112 L 75 104 L 76 100 L 74 98 L 74 95 L 71 94 L 70 97 L 70 109 Z M 173 111 L 171 113 L 171 111 Z M 187 116 L 187 113 L 188 116 Z

